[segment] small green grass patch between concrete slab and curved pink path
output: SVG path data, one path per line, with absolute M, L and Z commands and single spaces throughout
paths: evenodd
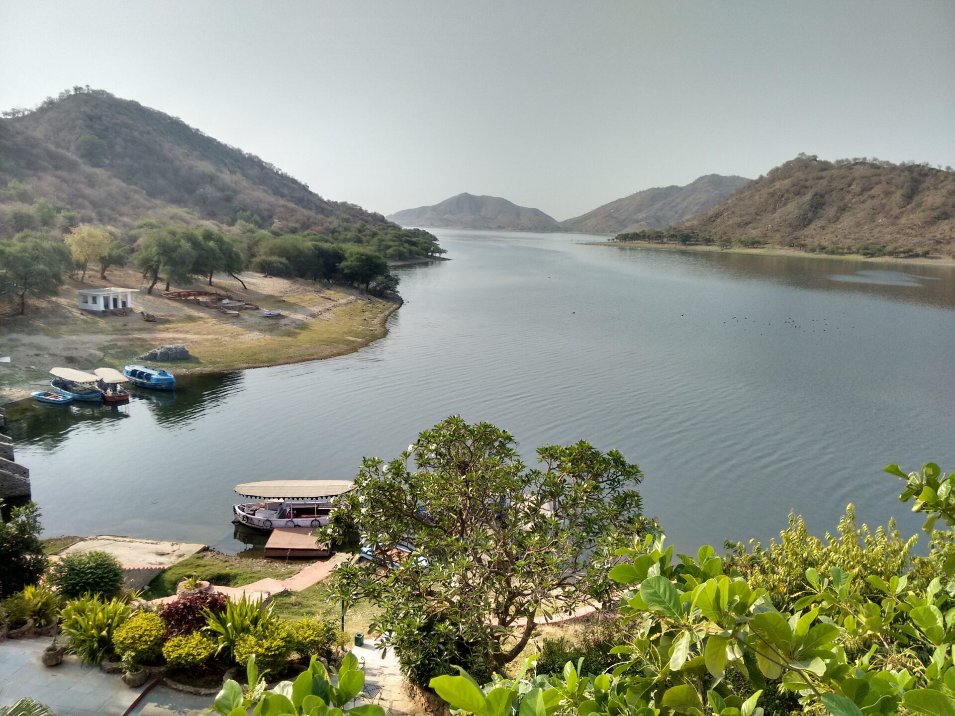
M 241 587 L 259 579 L 286 579 L 297 574 L 309 562 L 272 561 L 223 555 L 219 552 L 201 552 L 164 570 L 146 588 L 143 598 L 155 600 L 176 594 L 176 585 L 182 579 L 192 577 L 207 579 L 225 587 Z

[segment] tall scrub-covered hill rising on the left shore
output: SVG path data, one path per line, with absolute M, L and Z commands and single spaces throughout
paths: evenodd
M 389 226 L 380 214 L 325 200 L 267 161 L 176 117 L 101 90 L 75 88 L 32 112 L 5 117 L 0 119 L 3 234 L 10 233 L 4 218 L 16 204 L 37 199 L 69 206 L 81 221 L 117 228 L 143 217 L 244 220 L 283 230 Z M 22 185 L 29 185 L 31 196 Z

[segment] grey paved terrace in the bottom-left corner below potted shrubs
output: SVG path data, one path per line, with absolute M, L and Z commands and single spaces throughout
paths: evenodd
M 130 688 L 118 674 L 104 674 L 97 666 L 84 666 L 72 656 L 58 666 L 44 666 L 40 656 L 51 641 L 0 642 L 0 705 L 31 696 L 59 716 L 122 716 L 145 688 Z M 212 701 L 210 696 L 191 696 L 158 686 L 134 713 L 198 716 L 208 711 Z

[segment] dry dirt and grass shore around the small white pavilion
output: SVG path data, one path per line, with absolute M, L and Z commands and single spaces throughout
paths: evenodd
M 111 269 L 108 276 L 102 281 L 96 272 L 88 273 L 84 284 L 69 279 L 58 296 L 29 301 L 25 316 L 11 315 L 9 306 L 0 308 L 0 358 L 11 359 L 0 363 L 0 404 L 41 390 L 54 366 L 122 369 L 150 348 L 168 344 L 185 344 L 193 357 L 151 365 L 177 374 L 341 355 L 384 336 L 385 321 L 397 307 L 344 286 L 243 273 L 243 288 L 235 279 L 217 275 L 213 290 L 260 307 L 228 318 L 213 308 L 163 298 L 161 283 L 148 295 L 148 284 L 138 271 Z M 138 312 L 102 316 L 77 306 L 76 288 L 102 286 L 138 288 L 134 310 L 159 320 L 146 323 Z M 209 287 L 203 283 L 172 289 Z M 263 310 L 268 308 L 281 309 L 283 317 L 265 318 Z

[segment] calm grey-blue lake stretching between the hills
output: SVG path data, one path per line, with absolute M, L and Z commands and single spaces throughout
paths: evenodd
M 922 520 L 881 469 L 955 470 L 955 272 L 944 266 L 586 245 L 435 230 L 388 337 L 326 361 L 180 381 L 119 409 L 10 411 L 51 535 L 243 544 L 232 492 L 341 478 L 452 413 L 619 449 L 680 550 Z M 82 368 L 82 367 L 78 367 Z

